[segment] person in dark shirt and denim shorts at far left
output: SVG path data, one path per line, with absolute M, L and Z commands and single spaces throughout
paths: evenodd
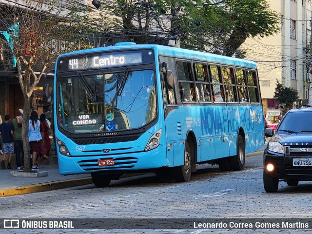
M 5 159 L 6 155 L 9 154 L 9 162 L 7 165 L 7 169 L 12 169 L 11 167 L 11 159 L 12 159 L 12 154 L 14 153 L 14 138 L 13 138 L 13 124 L 10 122 L 11 116 L 10 115 L 5 115 L 4 116 L 4 123 L 1 123 L 0 125 L 0 134 L 2 135 L 3 139 L 3 158 L 1 161 L 1 167 L 2 169 L 5 169 Z

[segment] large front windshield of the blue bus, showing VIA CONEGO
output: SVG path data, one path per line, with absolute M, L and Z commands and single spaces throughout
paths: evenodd
M 136 129 L 156 118 L 153 70 L 61 77 L 58 124 L 72 133 Z

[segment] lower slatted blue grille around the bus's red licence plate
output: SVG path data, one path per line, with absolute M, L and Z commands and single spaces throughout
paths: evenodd
M 118 157 L 114 159 L 115 165 L 113 166 L 98 166 L 98 159 L 88 159 L 78 161 L 78 165 L 82 170 L 92 172 L 99 169 L 130 169 L 137 163 L 136 157 Z

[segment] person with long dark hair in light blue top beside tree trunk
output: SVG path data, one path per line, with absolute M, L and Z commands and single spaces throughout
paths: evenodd
M 42 126 L 40 125 L 40 120 L 38 118 L 37 111 L 31 112 L 28 125 L 29 125 L 28 126 L 29 147 L 33 156 L 31 169 L 36 170 L 38 169 L 38 165 L 36 164 L 37 154 L 41 153 L 41 147 L 42 145 L 44 145 L 44 142 L 42 142 L 43 139 Z

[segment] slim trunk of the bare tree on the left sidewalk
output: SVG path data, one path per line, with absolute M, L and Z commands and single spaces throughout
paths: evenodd
M 23 140 L 23 149 L 24 149 L 24 172 L 31 172 L 30 165 L 30 148 L 28 140 L 28 120 L 29 120 L 29 97 L 24 95 L 24 115 L 23 115 L 23 124 L 21 128 L 21 138 Z

